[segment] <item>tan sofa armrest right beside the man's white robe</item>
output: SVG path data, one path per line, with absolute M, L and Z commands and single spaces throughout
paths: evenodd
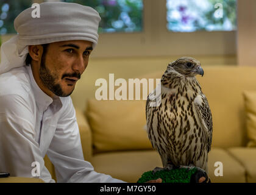
M 86 116 L 79 108 L 76 108 L 76 119 L 79 127 L 84 158 L 87 161 L 91 161 L 93 154 L 93 138 L 91 135 L 91 129 Z

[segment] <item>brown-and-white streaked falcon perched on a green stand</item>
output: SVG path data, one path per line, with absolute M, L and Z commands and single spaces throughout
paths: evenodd
M 182 57 L 168 64 L 162 76 L 161 101 L 151 106 L 148 96 L 146 121 L 149 140 L 161 157 L 163 168 L 194 167 L 208 172 L 212 144 L 212 113 L 196 75 L 204 75 L 201 63 Z

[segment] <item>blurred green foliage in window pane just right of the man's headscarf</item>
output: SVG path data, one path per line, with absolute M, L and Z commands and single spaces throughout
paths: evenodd
M 142 30 L 142 0 L 63 0 L 93 7 L 101 16 L 101 32 L 138 32 Z

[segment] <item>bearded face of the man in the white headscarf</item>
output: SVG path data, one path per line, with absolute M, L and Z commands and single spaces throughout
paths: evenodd
M 88 65 L 90 41 L 60 41 L 48 45 L 39 69 L 44 87 L 56 96 L 69 96 Z

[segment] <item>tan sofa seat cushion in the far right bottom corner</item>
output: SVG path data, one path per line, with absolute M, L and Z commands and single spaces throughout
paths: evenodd
M 246 170 L 246 182 L 256 182 L 256 148 L 233 147 L 228 150 Z

